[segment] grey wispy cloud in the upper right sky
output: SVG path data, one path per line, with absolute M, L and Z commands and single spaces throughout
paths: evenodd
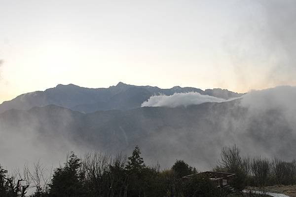
M 238 4 L 238 28 L 224 42 L 236 84 L 247 89 L 296 85 L 296 1 Z

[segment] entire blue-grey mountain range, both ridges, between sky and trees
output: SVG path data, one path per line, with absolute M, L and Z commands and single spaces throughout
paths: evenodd
M 296 93 L 295 87 L 278 89 L 282 94 Z M 224 98 L 225 102 L 140 107 L 152 95 L 190 91 Z M 47 158 L 46 162 L 56 163 L 71 150 L 130 154 L 139 145 L 148 163 L 159 161 L 167 167 L 176 159 L 184 159 L 198 169 L 209 169 L 223 146 L 236 144 L 244 154 L 293 159 L 294 105 L 277 105 L 277 97 L 266 92 L 270 91 L 244 95 L 222 89 L 160 89 L 123 83 L 98 89 L 58 85 L 0 106 L 0 155 L 7 162 Z M 239 98 L 226 100 L 233 97 Z M 253 103 L 268 107 L 252 107 Z M 286 104 L 288 107 L 283 107 Z

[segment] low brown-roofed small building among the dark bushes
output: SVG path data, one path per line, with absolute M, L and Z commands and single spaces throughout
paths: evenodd
M 231 178 L 235 176 L 235 174 L 233 173 L 206 171 L 206 172 L 200 172 L 196 174 L 190 174 L 188 176 L 182 177 L 182 179 L 186 181 L 201 175 L 209 177 L 211 181 L 214 181 L 217 183 L 218 187 L 224 187 L 228 185 L 229 180 L 231 180 Z

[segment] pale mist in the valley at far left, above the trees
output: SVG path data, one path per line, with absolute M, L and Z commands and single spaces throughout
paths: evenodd
M 72 115 L 67 112 L 63 113 L 63 128 L 55 125 L 50 114 L 45 114 L 42 119 L 22 110 L 0 114 L 1 166 L 12 171 L 22 169 L 25 164 L 32 167 L 40 161 L 50 169 L 63 164 L 71 151 L 82 156 L 89 149 L 71 135 L 67 124 L 73 121 Z M 60 130 L 64 133 L 59 133 Z

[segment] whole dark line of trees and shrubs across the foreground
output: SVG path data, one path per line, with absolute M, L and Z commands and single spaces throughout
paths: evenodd
M 74 153 L 53 170 L 37 162 L 33 171 L 8 175 L 0 167 L 0 197 L 226 197 L 231 191 L 242 191 L 247 185 L 293 185 L 296 182 L 296 161 L 242 157 L 236 146 L 224 147 L 214 171 L 235 173 L 230 180 L 231 190 L 224 190 L 206 176 L 185 180 L 196 174 L 195 167 L 177 160 L 167 170 L 159 164 L 147 166 L 137 146 L 130 157 L 118 154 L 115 158 L 92 152 L 78 158 Z M 28 196 L 28 195 L 27 195 Z

